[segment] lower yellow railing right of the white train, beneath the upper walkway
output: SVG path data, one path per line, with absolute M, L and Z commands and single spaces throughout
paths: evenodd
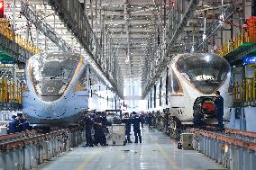
M 256 71 L 251 78 L 234 83 L 233 101 L 235 103 L 251 102 L 256 100 Z

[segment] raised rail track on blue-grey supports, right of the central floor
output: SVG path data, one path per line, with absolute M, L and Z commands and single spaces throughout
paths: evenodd
M 188 130 L 193 135 L 193 149 L 214 159 L 224 167 L 254 170 L 256 167 L 256 133 L 242 130 Z

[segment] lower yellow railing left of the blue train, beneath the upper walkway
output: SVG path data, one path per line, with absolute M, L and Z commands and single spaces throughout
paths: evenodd
M 22 103 L 22 84 L 14 84 L 14 81 L 2 78 L 0 81 L 0 102 Z

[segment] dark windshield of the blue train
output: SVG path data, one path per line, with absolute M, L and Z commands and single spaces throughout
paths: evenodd
M 41 99 L 52 102 L 64 94 L 80 56 L 69 53 L 49 53 L 31 58 L 32 83 Z

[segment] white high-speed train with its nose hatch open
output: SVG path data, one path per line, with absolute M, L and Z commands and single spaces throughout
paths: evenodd
M 213 102 L 215 91 L 220 91 L 224 97 L 224 121 L 229 121 L 229 107 L 233 102 L 230 70 L 229 63 L 215 54 L 178 54 L 162 74 L 161 82 L 148 94 L 148 103 L 153 103 L 149 108 L 156 110 L 153 106 L 158 108 L 159 103 L 159 108 L 169 108 L 173 118 L 171 126 L 174 127 L 177 123 L 193 124 L 200 121 L 215 124 Z

